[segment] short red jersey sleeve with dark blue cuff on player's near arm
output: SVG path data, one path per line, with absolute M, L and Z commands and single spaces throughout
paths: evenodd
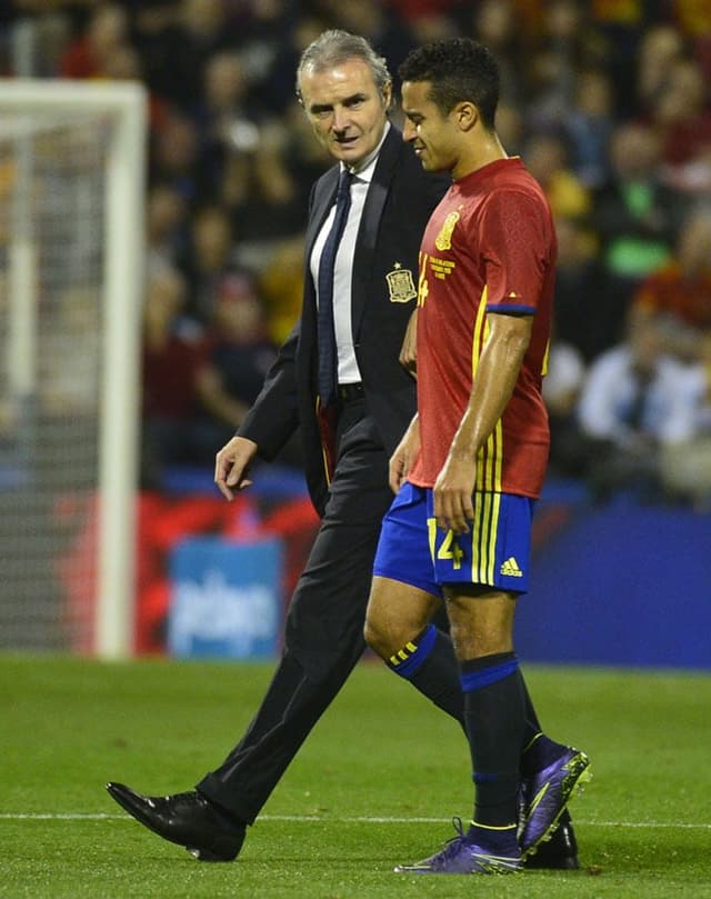
M 535 314 L 551 263 L 551 240 L 554 246 L 548 207 L 519 191 L 500 191 L 487 202 L 483 216 L 487 311 Z

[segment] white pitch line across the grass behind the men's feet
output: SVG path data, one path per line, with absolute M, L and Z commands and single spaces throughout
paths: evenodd
M 131 821 L 129 815 L 104 815 L 81 812 L 0 812 L 0 820 L 4 821 Z M 328 823 L 341 821 L 343 823 L 362 825 L 442 825 L 449 823 L 449 818 L 374 818 L 374 817 L 323 817 L 318 815 L 260 815 L 260 821 L 306 821 Z M 681 821 L 587 821 L 575 818 L 575 825 L 583 827 L 624 827 L 650 830 L 664 828 L 681 830 L 711 830 L 711 823 L 685 823 Z

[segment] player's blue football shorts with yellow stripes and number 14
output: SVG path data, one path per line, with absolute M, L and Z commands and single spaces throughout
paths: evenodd
M 432 490 L 405 481 L 383 519 L 373 575 L 438 597 L 457 583 L 524 593 L 534 501 L 480 491 L 472 499 L 469 533 L 455 535 L 437 527 Z

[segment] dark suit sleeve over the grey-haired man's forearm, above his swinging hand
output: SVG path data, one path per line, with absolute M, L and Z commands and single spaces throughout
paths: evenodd
M 299 426 L 296 353 L 300 322 L 282 344 L 264 386 L 237 431 L 258 446 L 261 458 L 271 460 Z

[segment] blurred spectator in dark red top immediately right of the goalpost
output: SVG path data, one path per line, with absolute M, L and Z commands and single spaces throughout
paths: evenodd
M 184 316 L 187 286 L 166 269 L 153 274 L 143 312 L 141 483 L 159 489 L 167 466 L 210 466 L 197 428 L 202 331 Z

